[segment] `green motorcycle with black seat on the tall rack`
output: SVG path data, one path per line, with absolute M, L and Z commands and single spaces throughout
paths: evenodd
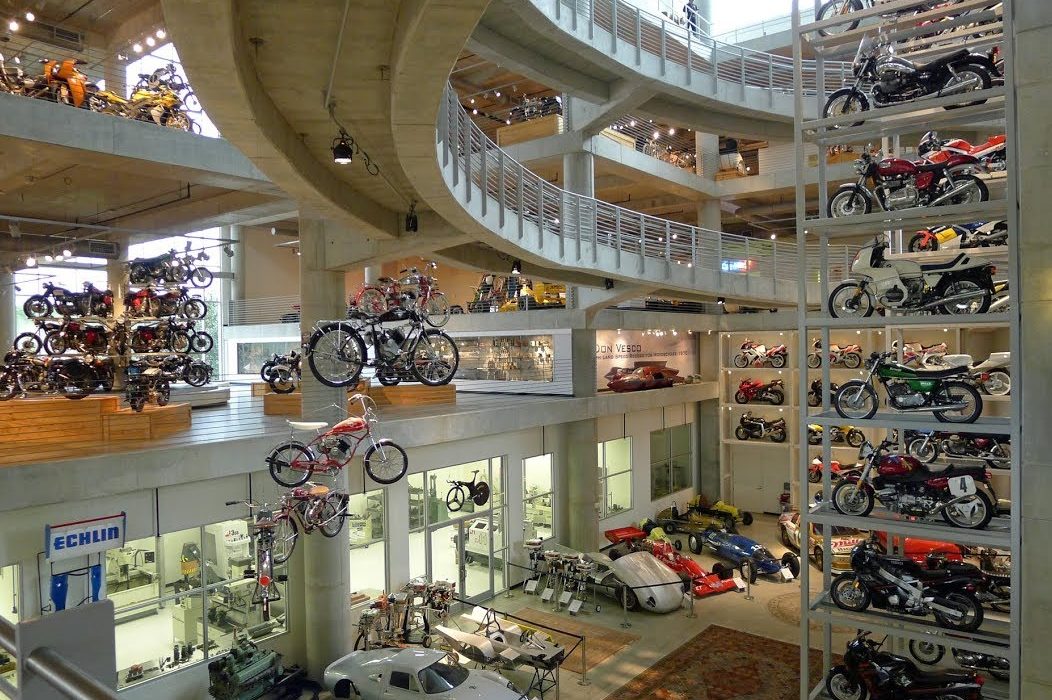
M 841 384 L 833 397 L 836 413 L 849 420 L 872 418 L 881 404 L 873 377 L 888 393 L 888 405 L 910 413 L 931 412 L 946 423 L 974 423 L 983 414 L 983 397 L 968 383 L 968 367 L 914 369 L 890 358 L 895 352 L 873 353 L 869 375 Z

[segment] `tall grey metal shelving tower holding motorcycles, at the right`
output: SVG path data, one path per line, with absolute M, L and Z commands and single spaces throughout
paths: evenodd
M 987 9 L 990 3 L 987 0 L 964 0 L 951 7 L 936 7 L 935 9 L 924 11 L 918 14 L 898 14 L 898 11 L 909 11 L 923 4 L 923 0 L 891 0 L 876 4 L 873 7 L 850 13 L 849 15 L 835 17 L 822 22 L 811 22 L 804 24 L 802 20 L 802 6 L 813 4 L 815 9 L 821 4 L 816 0 L 793 0 L 792 7 L 792 41 L 795 67 L 794 101 L 795 101 L 795 148 L 796 148 L 796 229 L 797 255 L 803 259 L 808 254 L 808 240 L 818 243 L 818 251 L 822 257 L 818 265 L 820 269 L 828 269 L 829 256 L 827 246 L 833 239 L 844 237 L 872 237 L 878 234 L 889 236 L 894 243 L 895 235 L 901 232 L 906 233 L 906 237 L 912 232 L 924 228 L 932 223 L 950 224 L 967 223 L 971 221 L 1004 219 L 1009 226 L 1009 245 L 1002 247 L 999 255 L 1007 255 L 1008 264 L 1005 265 L 1009 279 L 1009 288 L 1015 286 L 1018 279 L 1018 246 L 1014 237 L 1014 232 L 1018 231 L 1017 202 L 1017 176 L 1014 168 L 1009 168 L 1005 177 L 1005 187 L 1007 197 L 1005 199 L 991 199 L 986 202 L 973 204 L 955 204 L 939 206 L 936 208 L 914 207 L 895 212 L 874 212 L 861 216 L 852 216 L 841 219 L 833 219 L 824 216 L 826 212 L 829 179 L 827 163 L 820 158 L 817 162 L 817 189 L 818 189 L 818 212 L 823 216 L 809 219 L 806 215 L 806 193 L 804 183 L 805 173 L 805 144 L 816 145 L 820 151 L 831 145 L 852 144 L 855 146 L 865 145 L 869 142 L 884 140 L 886 152 L 888 146 L 895 154 L 899 154 L 899 137 L 907 134 L 919 135 L 929 129 L 938 129 L 944 134 L 952 132 L 952 127 L 964 124 L 991 127 L 992 123 L 1004 123 L 1008 137 L 1008 159 L 1010 162 L 1017 162 L 1016 153 L 1018 143 L 1013 133 L 1015 124 L 1015 94 L 1012 76 L 1012 55 L 1014 51 L 1012 38 L 1012 17 L 1014 0 L 1004 0 L 999 8 Z M 967 16 L 949 17 L 951 14 L 969 13 Z M 861 20 L 856 28 L 846 28 L 855 20 Z M 935 36 L 932 24 L 922 24 L 922 22 L 938 22 L 937 29 L 945 29 Z M 829 36 L 821 36 L 820 28 L 841 25 L 846 28 L 844 32 L 830 33 Z M 928 61 L 944 52 L 950 52 L 963 46 L 973 51 L 986 51 L 993 45 L 998 45 L 1002 56 L 1005 59 L 1005 80 L 1004 85 L 993 85 L 989 88 L 968 93 L 964 95 L 952 95 L 945 97 L 934 97 L 920 99 L 909 103 L 896 104 L 888 107 L 881 107 L 867 111 L 865 113 L 842 115 L 830 118 L 809 119 L 805 113 L 806 100 L 812 100 L 810 105 L 816 105 L 817 112 L 811 114 L 822 114 L 826 95 L 821 92 L 817 95 L 805 95 L 800 72 L 804 61 L 805 46 L 814 54 L 818 84 L 822 83 L 822 76 L 826 69 L 826 62 L 838 58 L 843 59 L 855 51 L 862 37 L 869 34 L 872 36 L 878 29 L 885 29 L 889 38 L 896 42 L 897 55 L 905 58 Z M 927 36 L 926 36 L 927 35 Z M 980 35 L 980 36 L 974 36 Z M 964 39 L 964 41 L 963 41 Z M 985 102 L 978 105 L 969 105 L 968 102 L 983 99 Z M 809 106 L 810 106 L 809 105 Z M 945 106 L 960 105 L 957 108 L 944 109 Z M 862 124 L 854 125 L 855 122 L 863 121 Z M 996 126 L 993 126 L 996 128 Z M 875 145 L 875 144 L 874 144 Z M 993 196 L 993 195 L 992 195 Z M 1009 201 L 1008 197 L 1012 198 Z M 902 251 L 902 237 L 899 244 L 894 249 Z M 910 256 L 914 258 L 915 256 Z M 801 265 L 801 271 L 805 269 Z M 1005 269 L 998 261 L 997 280 L 1004 279 Z M 797 285 L 803 294 L 807 289 L 808 280 L 803 273 L 797 275 Z M 832 287 L 828 279 L 821 280 L 822 298 L 828 298 L 829 289 Z M 803 298 L 803 297 L 802 297 Z M 1017 304 L 1016 304 L 1017 306 Z M 1014 375 L 1018 366 L 1019 351 L 1019 329 L 1018 312 L 1012 309 L 1008 313 L 993 313 L 985 315 L 959 315 L 959 316 L 933 316 L 917 315 L 904 316 L 897 313 L 887 313 L 885 315 L 874 314 L 870 318 L 831 318 L 828 315 L 825 302 L 822 308 L 808 311 L 806 306 L 797 308 L 796 317 L 796 348 L 791 348 L 793 366 L 798 367 L 797 375 L 805 376 L 806 355 L 808 342 L 811 338 L 818 336 L 823 346 L 830 345 L 831 331 L 862 331 L 884 329 L 886 348 L 891 348 L 891 337 L 893 331 L 903 333 L 911 328 L 922 326 L 952 326 L 960 328 L 976 328 L 982 326 L 1007 326 L 1009 328 L 1009 347 L 998 347 L 996 349 L 1008 349 L 1012 353 L 1013 364 L 1010 372 Z M 901 336 L 899 336 L 901 337 Z M 864 348 L 868 352 L 881 349 Z M 828 362 L 821 367 L 822 378 L 825 385 L 835 378 L 835 374 L 830 374 Z M 807 423 L 817 423 L 824 426 L 842 424 L 845 421 L 830 405 L 830 398 L 823 396 L 823 403 L 817 415 L 808 415 L 806 404 L 806 394 L 808 391 L 806 382 L 798 382 L 793 386 L 796 389 L 797 398 L 794 402 L 798 411 L 796 428 L 800 435 L 796 440 L 800 459 L 797 460 L 800 482 L 807 477 L 807 465 L 809 456 L 817 445 L 808 445 L 806 441 Z M 1023 387 L 1013 386 L 1013 391 L 1007 397 L 999 397 L 1000 407 L 1007 406 L 1006 417 L 990 417 L 984 415 L 976 422 L 971 424 L 943 423 L 930 414 L 908 414 L 897 413 L 890 408 L 881 406 L 873 418 L 868 420 L 849 421 L 857 427 L 868 433 L 874 429 L 884 428 L 887 431 L 897 429 L 901 436 L 907 429 L 918 431 L 953 431 L 963 434 L 1004 434 L 1008 435 L 1013 445 L 1019 444 L 1019 412 L 1020 394 Z M 984 401 L 990 397 L 983 397 Z M 986 414 L 986 412 L 985 412 Z M 899 444 L 899 449 L 903 445 Z M 822 444 L 822 459 L 828 463 L 832 457 L 832 445 L 829 441 L 828 429 L 824 432 Z M 932 641 L 937 640 L 947 647 L 957 647 L 992 654 L 1009 659 L 1011 673 L 1007 685 L 995 681 L 989 681 L 983 687 L 984 697 L 991 698 L 1018 698 L 1019 691 L 1019 616 L 1018 591 L 1019 591 L 1019 566 L 1012 568 L 1011 589 L 1012 597 L 1010 606 L 1012 614 L 1006 616 L 1000 613 L 988 613 L 983 626 L 974 633 L 960 633 L 938 627 L 930 618 L 904 618 L 891 613 L 884 613 L 870 608 L 864 613 L 849 613 L 836 607 L 829 598 L 829 588 L 832 581 L 830 571 L 831 526 L 841 525 L 847 527 L 858 527 L 870 531 L 886 531 L 908 537 L 922 537 L 926 539 L 953 542 L 964 545 L 983 545 L 996 547 L 1009 555 L 1018 556 L 1020 545 L 1019 511 L 1020 504 L 1020 480 L 1019 474 L 1019 449 L 1012 451 L 1012 461 L 1010 469 L 998 469 L 1008 476 L 1010 487 L 1008 493 L 998 493 L 999 498 L 1008 497 L 1008 500 L 1016 504 L 1007 516 L 996 517 L 989 527 L 983 531 L 962 529 L 948 524 L 935 523 L 931 521 L 918 522 L 899 516 L 897 514 L 886 513 L 884 509 L 874 511 L 868 517 L 849 517 L 837 513 L 831 507 L 831 503 L 820 503 L 817 506 L 808 508 L 801 507 L 801 526 L 806 528 L 809 523 L 823 524 L 823 557 L 824 566 L 821 574 L 822 592 L 816 596 L 811 596 L 809 566 L 803 567 L 801 572 L 801 680 L 800 697 L 802 700 L 825 697 L 825 672 L 832 666 L 832 655 L 843 653 L 843 647 L 834 648 L 833 635 L 834 626 L 837 628 L 847 627 L 850 629 L 867 629 L 876 634 L 888 635 L 892 651 L 904 649 L 908 640 Z M 825 494 L 831 493 L 831 479 L 828 471 L 823 474 L 821 487 Z M 812 631 L 812 623 L 816 631 Z M 838 634 L 838 633 L 837 633 Z M 823 653 L 823 675 L 813 677 L 808 663 L 808 649 L 815 647 Z

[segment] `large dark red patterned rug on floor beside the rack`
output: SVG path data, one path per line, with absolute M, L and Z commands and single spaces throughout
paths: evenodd
M 811 678 L 822 652 L 811 649 Z M 606 700 L 797 700 L 800 647 L 710 625 Z

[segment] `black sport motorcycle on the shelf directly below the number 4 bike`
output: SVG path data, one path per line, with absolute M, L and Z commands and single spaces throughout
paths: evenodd
M 872 541 L 851 549 L 851 571 L 833 579 L 829 596 L 837 607 L 853 613 L 872 605 L 917 617 L 933 615 L 939 626 L 959 632 L 974 632 L 983 624 L 983 606 L 971 576 L 932 571 L 909 557 L 882 554 Z

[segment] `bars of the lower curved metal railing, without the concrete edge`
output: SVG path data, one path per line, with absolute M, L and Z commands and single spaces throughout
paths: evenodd
M 494 231 L 521 242 L 527 222 L 538 227 L 534 246 L 541 255 L 560 257 L 559 251 L 544 248 L 545 233 L 559 236 L 562 251 L 575 248 L 582 267 L 598 261 L 598 247 L 616 252 L 619 267 L 638 275 L 645 259 L 660 259 L 697 272 L 744 276 L 755 280 L 796 280 L 796 243 L 778 242 L 708 231 L 684 223 L 647 216 L 632 209 L 561 189 L 525 168 L 486 137 L 462 107 L 457 93 L 447 86 L 439 116 L 438 157 L 443 167 L 452 166 L 452 189 L 462 202 L 482 197 L 483 216 L 489 207 L 500 213 L 501 224 L 519 219 L 518 235 Z M 581 257 L 583 247 L 591 249 L 591 259 Z M 807 279 L 817 282 L 821 256 L 810 252 L 805 264 Z M 844 279 L 850 268 L 853 251 L 846 245 L 829 246 L 830 282 Z M 756 286 L 770 291 L 770 284 Z M 719 289 L 711 289 L 717 292 Z M 773 292 L 772 292 L 773 294 Z

